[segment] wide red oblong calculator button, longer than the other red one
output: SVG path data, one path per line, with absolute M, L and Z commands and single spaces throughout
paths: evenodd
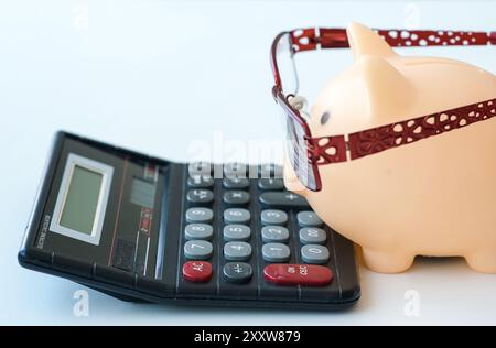
M 324 286 L 333 280 L 333 272 L 323 265 L 274 263 L 263 269 L 267 281 L 277 285 Z

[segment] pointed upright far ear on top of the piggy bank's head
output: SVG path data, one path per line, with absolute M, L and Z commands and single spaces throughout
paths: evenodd
M 353 56 L 357 61 L 363 55 L 389 57 L 396 55 L 388 43 L 376 32 L 359 23 L 351 23 L 346 29 Z

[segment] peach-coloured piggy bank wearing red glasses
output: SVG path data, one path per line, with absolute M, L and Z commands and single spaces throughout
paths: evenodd
M 496 96 L 496 77 L 481 68 L 401 56 L 357 23 L 347 36 L 354 64 L 311 107 L 315 137 L 349 134 Z M 496 117 L 321 166 L 319 192 L 304 188 L 288 162 L 284 170 L 287 187 L 362 246 L 374 271 L 402 272 L 416 255 L 428 255 L 463 257 L 472 269 L 496 273 Z

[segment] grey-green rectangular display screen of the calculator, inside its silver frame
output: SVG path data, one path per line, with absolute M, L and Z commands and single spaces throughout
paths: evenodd
M 104 175 L 76 165 L 67 189 L 60 225 L 91 235 Z

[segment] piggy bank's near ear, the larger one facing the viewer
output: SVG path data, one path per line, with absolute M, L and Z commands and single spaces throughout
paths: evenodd
M 412 96 L 407 78 L 385 58 L 363 56 L 358 63 L 367 89 L 369 113 L 395 117 L 405 110 Z

